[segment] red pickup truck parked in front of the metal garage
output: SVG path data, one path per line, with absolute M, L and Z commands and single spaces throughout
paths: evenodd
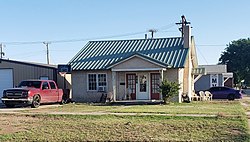
M 53 80 L 25 80 L 17 88 L 4 90 L 2 102 L 6 107 L 30 104 L 37 108 L 41 103 L 63 102 L 63 90 Z

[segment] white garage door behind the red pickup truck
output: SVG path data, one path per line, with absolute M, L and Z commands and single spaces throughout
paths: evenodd
M 0 69 L 0 97 L 3 96 L 4 89 L 11 88 L 11 87 L 13 87 L 12 69 Z

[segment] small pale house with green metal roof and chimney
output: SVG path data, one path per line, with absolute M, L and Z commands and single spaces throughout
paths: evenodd
M 184 37 L 90 41 L 71 59 L 73 99 L 99 102 L 103 92 L 113 101 L 161 100 L 163 79 L 181 85 L 181 94 L 194 89 L 192 69 L 197 66 L 189 26 Z M 129 95 L 128 95 L 129 94 Z

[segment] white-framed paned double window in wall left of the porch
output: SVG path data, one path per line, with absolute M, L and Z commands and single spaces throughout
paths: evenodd
M 106 89 L 107 75 L 106 74 L 88 74 L 88 90 L 97 91 L 99 87 Z

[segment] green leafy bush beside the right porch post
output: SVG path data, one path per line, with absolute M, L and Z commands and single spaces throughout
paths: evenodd
M 170 82 L 168 80 L 163 80 L 160 85 L 162 98 L 165 104 L 169 103 L 169 98 L 177 96 L 180 89 L 180 84 L 176 82 Z

